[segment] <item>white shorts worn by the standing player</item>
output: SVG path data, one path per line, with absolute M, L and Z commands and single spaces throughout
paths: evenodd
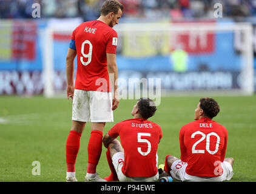
M 112 93 L 75 89 L 72 120 L 113 122 Z

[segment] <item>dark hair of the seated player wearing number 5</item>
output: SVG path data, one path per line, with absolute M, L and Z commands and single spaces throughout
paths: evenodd
M 155 102 L 153 102 L 152 99 L 149 98 L 140 98 L 138 100 L 137 106 L 140 116 L 144 119 L 148 119 L 151 116 L 155 115 L 155 112 L 157 111 Z

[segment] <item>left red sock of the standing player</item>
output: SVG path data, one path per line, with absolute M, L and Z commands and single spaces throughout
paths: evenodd
M 66 143 L 67 172 L 75 172 L 76 156 L 80 147 L 81 133 L 70 131 Z

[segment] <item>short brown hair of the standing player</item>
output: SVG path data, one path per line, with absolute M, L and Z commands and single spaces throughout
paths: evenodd
M 123 5 L 117 0 L 107 0 L 101 7 L 101 15 L 106 16 L 108 13 L 118 13 L 118 10 L 121 9 L 123 11 Z

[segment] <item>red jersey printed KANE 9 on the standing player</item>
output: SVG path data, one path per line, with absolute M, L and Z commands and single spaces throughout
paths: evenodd
M 111 92 L 106 53 L 116 53 L 117 33 L 104 22 L 83 22 L 73 31 L 77 53 L 75 89 Z

